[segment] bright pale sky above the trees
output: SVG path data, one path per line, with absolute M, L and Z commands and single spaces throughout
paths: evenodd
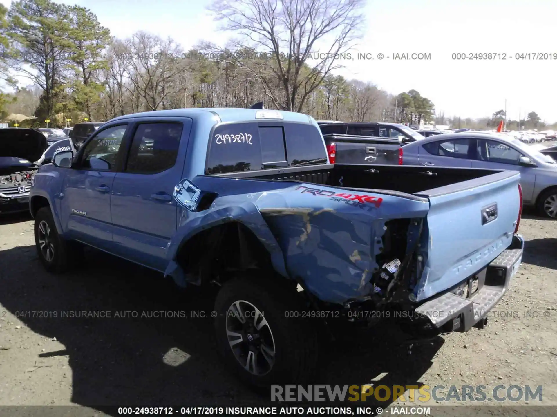
M 9 6 L 8 0 L 0 0 Z M 114 36 L 144 30 L 170 36 L 184 49 L 200 41 L 226 43 L 206 11 L 209 0 L 79 0 Z M 517 61 L 516 53 L 557 53 L 553 0 L 369 0 L 357 52 L 382 60 L 343 61 L 348 78 L 392 93 L 418 90 L 446 116 L 509 118 L 536 111 L 557 121 L 557 60 Z M 393 53 L 431 53 L 429 61 L 394 61 Z M 505 53 L 505 61 L 453 60 L 452 53 Z

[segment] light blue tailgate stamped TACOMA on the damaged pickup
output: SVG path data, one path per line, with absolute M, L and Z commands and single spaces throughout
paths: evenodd
M 416 193 L 427 197 L 427 259 L 416 301 L 447 290 L 486 267 L 511 245 L 519 216 L 517 171 Z

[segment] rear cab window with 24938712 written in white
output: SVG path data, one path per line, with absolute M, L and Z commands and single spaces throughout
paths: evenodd
M 319 128 L 294 122 L 223 123 L 214 128 L 208 174 L 327 163 Z

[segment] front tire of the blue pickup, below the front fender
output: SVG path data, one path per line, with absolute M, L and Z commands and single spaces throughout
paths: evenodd
M 47 235 L 47 239 L 43 239 Z M 41 245 L 50 246 L 47 256 Z M 35 247 L 38 259 L 48 272 L 61 274 L 77 265 L 83 255 L 83 247 L 77 242 L 62 239 L 56 230 L 56 224 L 49 207 L 42 207 L 35 215 Z M 44 246 L 43 246 L 44 247 Z

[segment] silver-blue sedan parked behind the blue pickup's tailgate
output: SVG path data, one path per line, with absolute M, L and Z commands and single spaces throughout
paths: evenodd
M 408 165 L 515 170 L 522 198 L 540 215 L 557 217 L 557 164 L 534 147 L 506 135 L 468 132 L 439 135 L 404 147 Z

